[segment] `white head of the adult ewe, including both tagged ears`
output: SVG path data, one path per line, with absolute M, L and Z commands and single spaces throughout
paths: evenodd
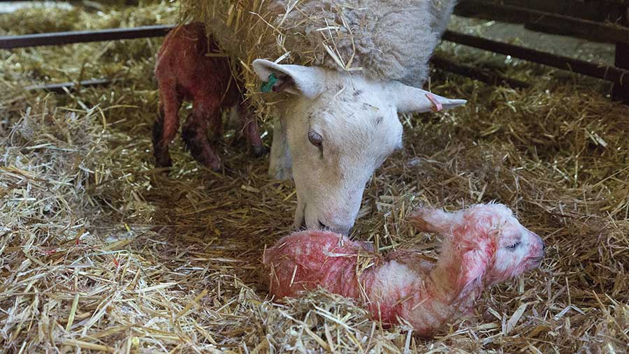
M 291 169 L 297 194 L 296 227 L 347 235 L 366 183 L 402 146 L 398 113 L 465 103 L 397 81 L 370 80 L 359 73 L 262 59 L 252 67 L 262 81 L 273 84 L 274 91 L 286 94 L 286 100 L 278 104 L 282 131 L 273 136 L 270 170 L 277 178 L 289 175 L 278 170 Z

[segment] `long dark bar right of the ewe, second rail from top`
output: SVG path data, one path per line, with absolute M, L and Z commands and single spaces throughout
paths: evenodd
M 470 36 L 468 34 L 460 34 L 454 31 L 445 31 L 443 39 L 454 43 L 469 45 L 470 47 L 476 47 L 482 50 L 511 55 L 512 57 L 534 61 L 536 63 L 572 71 L 574 73 L 592 76 L 593 78 L 611 81 L 619 87 L 629 87 L 629 70 L 616 68 L 616 66 L 592 64 L 587 61 L 562 57 L 547 52 L 540 52 L 539 50 L 520 47 L 518 45 Z

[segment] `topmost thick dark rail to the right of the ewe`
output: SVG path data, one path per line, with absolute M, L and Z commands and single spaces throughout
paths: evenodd
M 521 6 L 503 5 L 486 0 L 465 0 L 455 8 L 457 15 L 484 17 L 512 23 L 547 24 L 556 34 L 574 34 L 605 43 L 629 43 L 629 28 L 576 17 L 547 13 Z

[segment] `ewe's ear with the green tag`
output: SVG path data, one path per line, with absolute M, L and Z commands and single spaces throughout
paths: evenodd
M 324 87 L 324 75 L 319 68 L 282 65 L 265 59 L 254 60 L 253 68 L 260 80 L 268 84 L 268 89 L 273 91 L 286 91 L 289 94 L 315 98 Z

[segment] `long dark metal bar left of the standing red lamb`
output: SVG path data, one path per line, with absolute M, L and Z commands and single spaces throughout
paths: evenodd
M 172 25 L 143 26 L 136 28 L 101 29 L 96 31 L 52 32 L 0 37 L 0 49 L 36 47 L 38 45 L 63 45 L 69 43 L 99 42 L 166 36 Z

